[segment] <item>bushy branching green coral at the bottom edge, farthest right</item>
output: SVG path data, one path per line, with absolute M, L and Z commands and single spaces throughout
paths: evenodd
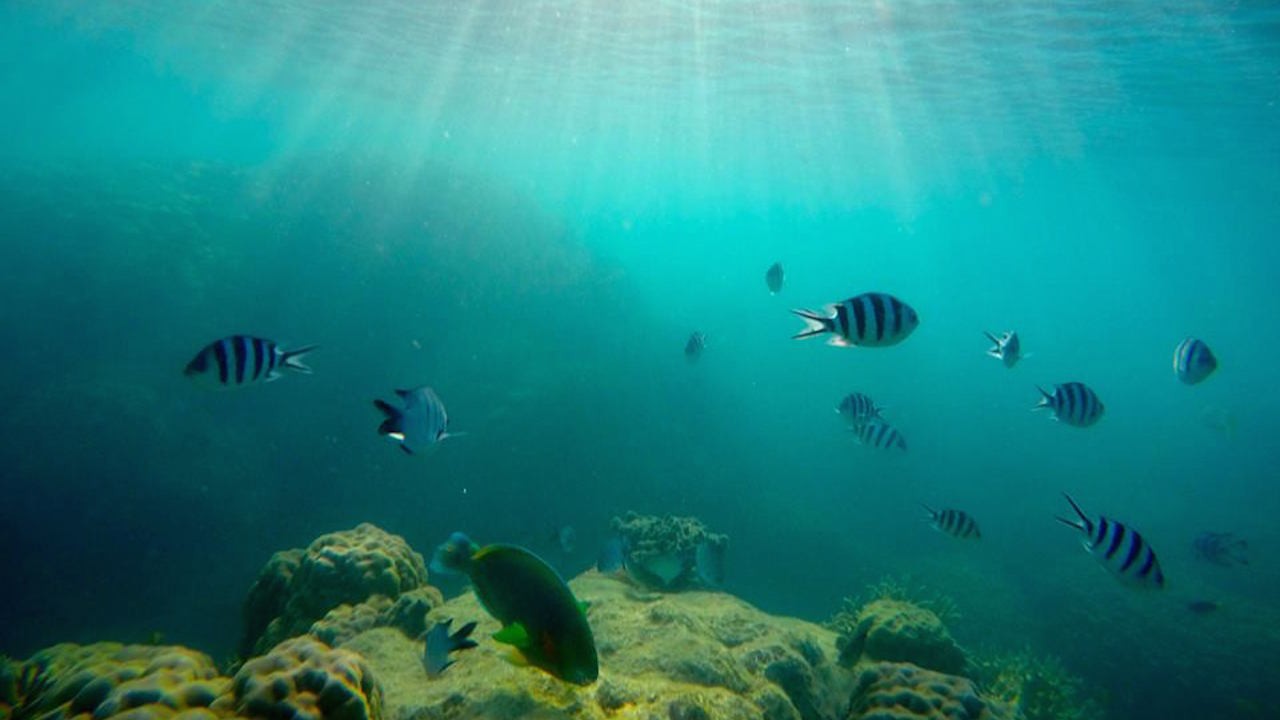
M 1102 703 L 1088 694 L 1080 678 L 1050 655 L 1029 648 L 979 653 L 970 660 L 974 682 L 989 697 L 1018 708 L 1023 720 L 1101 720 Z

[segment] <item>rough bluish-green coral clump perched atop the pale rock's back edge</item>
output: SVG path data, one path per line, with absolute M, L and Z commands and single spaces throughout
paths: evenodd
M 631 577 L 660 591 L 707 588 L 709 583 L 698 566 L 699 548 L 714 561 L 728 548 L 728 536 L 712 533 L 696 518 L 627 512 L 613 518 L 612 527 L 626 541 Z

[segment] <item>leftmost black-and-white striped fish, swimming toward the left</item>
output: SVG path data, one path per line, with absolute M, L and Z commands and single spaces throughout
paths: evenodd
M 214 388 L 269 383 L 280 377 L 280 370 L 310 375 L 311 368 L 302 364 L 302 356 L 315 348 L 315 345 L 308 345 L 284 350 L 269 340 L 233 334 L 206 345 L 187 363 L 183 373 L 196 383 Z

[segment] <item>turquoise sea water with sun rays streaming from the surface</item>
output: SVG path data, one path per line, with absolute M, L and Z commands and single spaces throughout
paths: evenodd
M 909 574 L 1116 716 L 1277 712 L 1280 9 L 348 5 L 0 5 L 0 650 L 229 653 L 259 566 L 320 533 L 576 574 L 637 510 L 728 533 L 726 589 L 773 612 Z M 919 311 L 900 346 L 788 340 L 869 290 Z M 241 332 L 316 374 L 182 377 Z M 1188 334 L 1221 360 L 1194 387 Z M 1028 411 L 1066 380 L 1098 425 Z M 416 384 L 468 434 L 408 457 L 370 401 Z M 849 437 L 851 389 L 910 452 Z M 1062 491 L 1169 588 L 1106 577 Z M 1202 530 L 1251 565 L 1197 562 Z

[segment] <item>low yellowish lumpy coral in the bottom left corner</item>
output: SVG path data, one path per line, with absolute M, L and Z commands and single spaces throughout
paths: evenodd
M 119 643 L 45 648 L 23 665 L 17 717 L 166 719 L 211 714 L 228 679 L 206 655 L 183 647 Z

